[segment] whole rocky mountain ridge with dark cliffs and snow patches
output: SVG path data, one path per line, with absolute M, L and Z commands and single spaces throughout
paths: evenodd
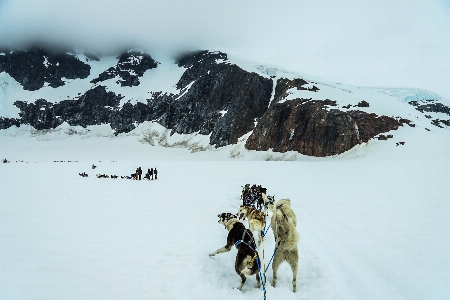
M 444 130 L 450 124 L 449 107 L 428 91 L 345 86 L 234 62 L 222 52 L 186 53 L 162 64 L 138 50 L 117 57 L 38 47 L 0 51 L 0 86 L 3 130 L 66 122 L 109 124 L 119 135 L 157 122 L 170 134 L 209 136 L 214 147 L 244 143 L 248 150 L 319 157 L 401 126 L 413 130 L 422 116 Z

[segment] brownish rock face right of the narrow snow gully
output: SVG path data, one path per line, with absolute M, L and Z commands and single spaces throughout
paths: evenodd
M 295 99 L 271 105 L 245 147 L 276 152 L 294 150 L 323 157 L 343 153 L 379 133 L 402 126 L 396 119 L 386 116 L 329 110 L 326 103 Z

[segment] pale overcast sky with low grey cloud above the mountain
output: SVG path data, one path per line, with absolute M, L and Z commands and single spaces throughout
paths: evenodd
M 324 79 L 450 99 L 450 0 L 0 0 L 0 46 L 220 50 Z

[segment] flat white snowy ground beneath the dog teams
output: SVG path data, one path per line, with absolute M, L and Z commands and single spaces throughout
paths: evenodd
M 298 291 L 283 264 L 267 299 L 450 299 L 447 129 L 401 128 L 322 159 L 96 132 L 1 132 L 0 299 L 263 299 L 254 277 L 235 289 L 235 249 L 208 256 L 246 183 L 290 198 L 298 218 Z M 266 161 L 279 159 L 291 161 Z M 138 166 L 158 180 L 95 177 Z M 273 248 L 269 232 L 266 261 Z

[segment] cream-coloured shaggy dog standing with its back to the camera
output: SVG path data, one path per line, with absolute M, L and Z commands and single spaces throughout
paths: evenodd
M 272 286 L 277 284 L 277 270 L 283 261 L 287 261 L 292 269 L 292 289 L 297 291 L 298 248 L 297 217 L 291 208 L 291 200 L 281 199 L 271 205 L 273 211 L 271 226 L 275 237 L 276 252 L 273 258 Z

